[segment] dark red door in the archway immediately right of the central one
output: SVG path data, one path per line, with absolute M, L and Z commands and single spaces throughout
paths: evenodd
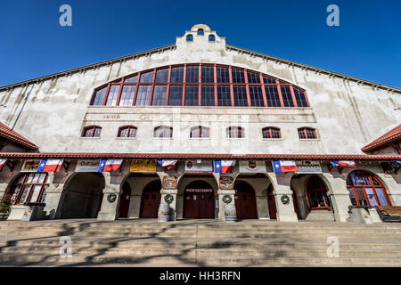
M 257 205 L 255 191 L 252 186 L 244 181 L 235 183 L 235 209 L 237 218 L 242 219 L 257 219 Z

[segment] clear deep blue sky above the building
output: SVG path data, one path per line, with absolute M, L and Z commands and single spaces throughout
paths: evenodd
M 61 27 L 61 4 L 72 27 Z M 326 7 L 340 7 L 340 27 Z M 0 85 L 175 43 L 196 23 L 235 45 L 401 87 L 401 1 L 3 0 Z

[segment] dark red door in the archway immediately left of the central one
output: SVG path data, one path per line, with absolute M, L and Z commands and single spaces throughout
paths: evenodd
M 160 205 L 160 181 L 149 183 L 142 194 L 141 217 L 158 217 Z

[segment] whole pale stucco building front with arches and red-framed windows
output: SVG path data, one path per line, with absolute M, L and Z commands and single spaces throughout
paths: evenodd
M 350 205 L 401 206 L 400 89 L 226 45 L 206 25 L 174 45 L 0 87 L 0 104 L 12 218 L 29 201 L 51 219 L 157 217 L 166 195 L 176 219 L 224 220 L 234 204 L 240 219 L 347 222 Z M 41 159 L 62 167 L 21 171 Z M 78 171 L 100 159 L 123 162 Z M 232 172 L 213 170 L 222 159 Z M 320 170 L 276 174 L 275 160 Z

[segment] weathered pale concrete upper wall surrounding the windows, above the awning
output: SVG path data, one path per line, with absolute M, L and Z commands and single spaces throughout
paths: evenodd
M 204 36 L 196 35 L 200 27 Z M 192 43 L 185 41 L 189 33 Z M 216 42 L 209 42 L 211 33 Z M 94 89 L 111 80 L 143 69 L 193 62 L 233 65 L 282 78 L 307 90 L 311 108 L 89 106 Z M 198 25 L 176 38 L 176 49 L 2 91 L 0 103 L 7 107 L 0 121 L 12 125 L 24 102 L 15 130 L 39 145 L 40 151 L 362 154 L 361 147 L 399 124 L 396 109 L 401 96 L 226 50 L 224 37 Z M 211 128 L 208 140 L 189 138 L 190 128 L 200 121 Z M 127 124 L 138 127 L 137 138 L 117 139 L 119 126 Z M 82 128 L 89 125 L 102 126 L 101 138 L 80 138 Z M 152 128 L 159 125 L 174 126 L 174 138 L 154 139 Z M 245 139 L 225 138 L 225 128 L 233 125 L 245 128 Z M 282 140 L 264 141 L 264 126 L 280 127 Z M 299 126 L 315 127 L 318 139 L 299 140 Z

